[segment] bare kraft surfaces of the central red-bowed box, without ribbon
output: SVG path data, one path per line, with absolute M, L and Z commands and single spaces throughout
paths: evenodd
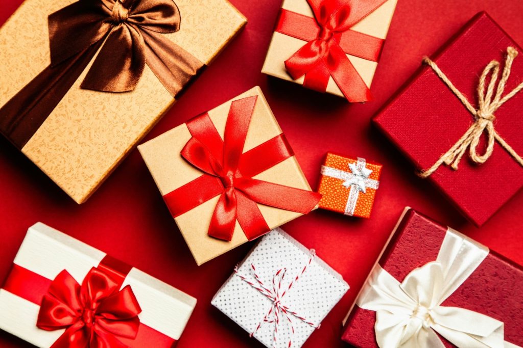
M 212 123 L 223 139 L 225 122 L 228 118 L 231 103 L 234 100 L 255 95 L 258 96 L 258 100 L 247 131 L 244 153 L 282 134 L 281 128 L 260 88 L 255 87 L 208 112 Z M 201 175 L 198 169 L 188 164 L 180 155 L 181 150 L 190 138 L 191 134 L 184 123 L 138 147 L 162 196 L 186 185 Z M 295 156 L 270 167 L 253 178 L 308 191 L 311 190 Z M 237 221 L 232 241 L 222 241 L 208 236 L 209 224 L 218 199 L 219 196 L 214 197 L 174 218 L 198 265 L 247 242 L 247 237 Z M 297 212 L 259 204 L 258 208 L 270 229 L 274 229 L 302 215 Z

